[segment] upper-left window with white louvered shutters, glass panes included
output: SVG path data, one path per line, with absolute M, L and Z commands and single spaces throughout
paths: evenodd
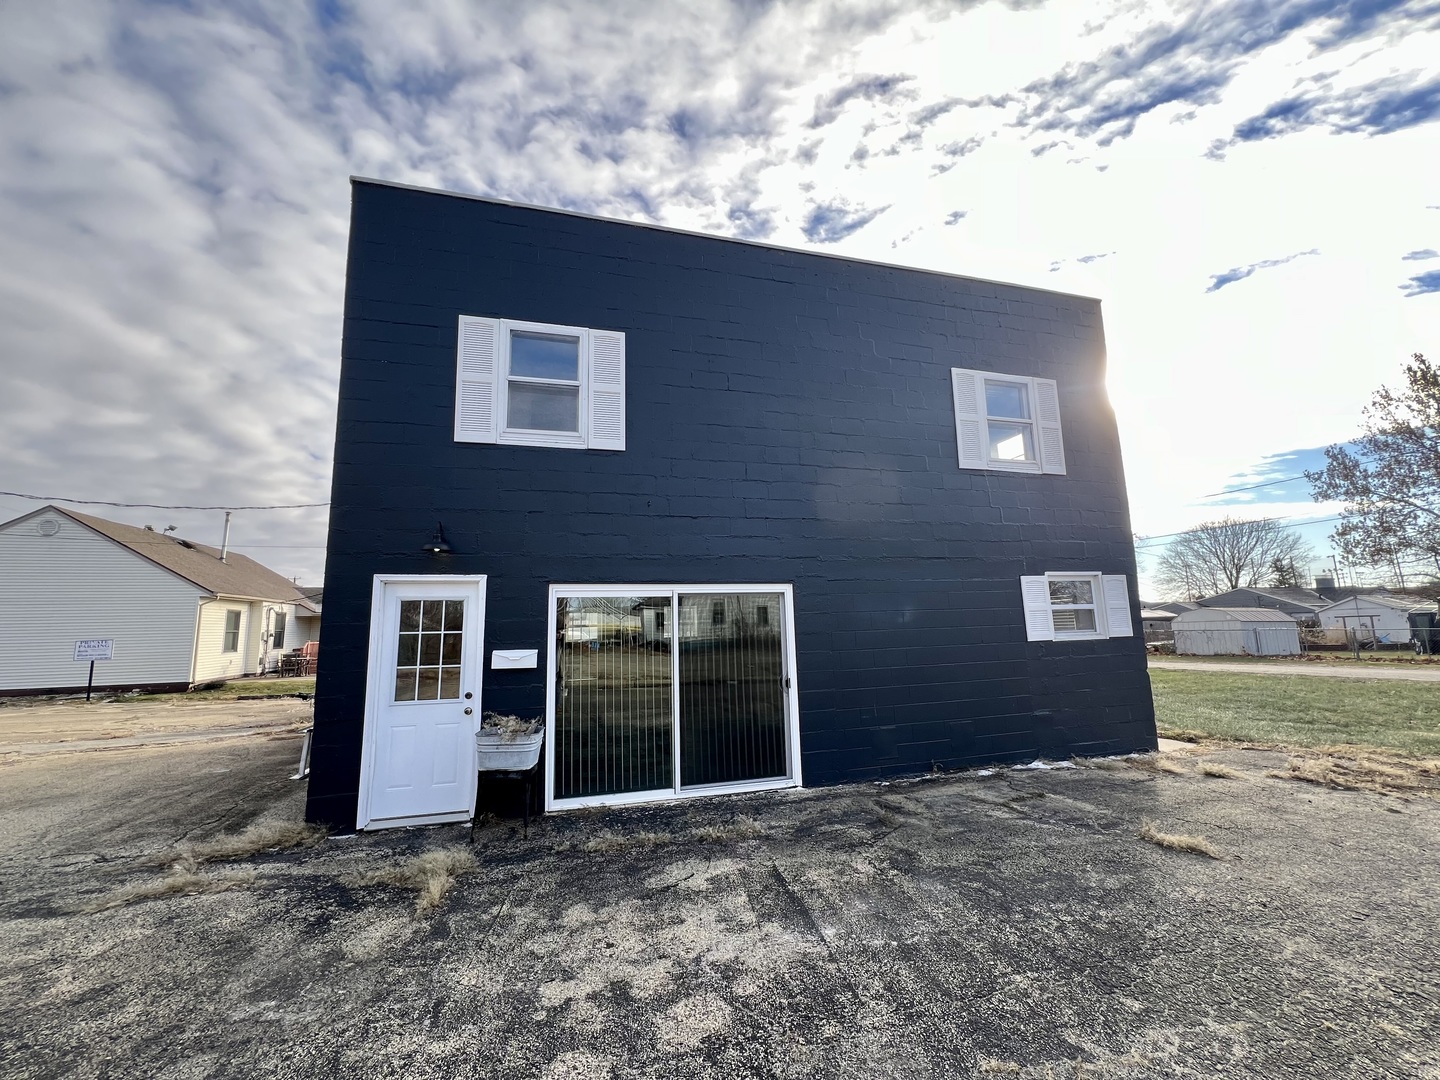
M 625 449 L 625 334 L 461 315 L 455 441 Z

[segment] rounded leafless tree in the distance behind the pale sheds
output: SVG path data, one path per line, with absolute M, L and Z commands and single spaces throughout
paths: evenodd
M 1309 544 L 1273 517 L 1204 521 L 1176 536 L 1155 569 L 1159 586 L 1182 600 L 1272 585 L 1277 566 L 1310 562 Z

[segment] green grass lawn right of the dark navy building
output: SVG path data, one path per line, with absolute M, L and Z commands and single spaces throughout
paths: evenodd
M 1228 671 L 1151 671 L 1161 734 L 1237 742 L 1356 743 L 1440 756 L 1440 684 Z

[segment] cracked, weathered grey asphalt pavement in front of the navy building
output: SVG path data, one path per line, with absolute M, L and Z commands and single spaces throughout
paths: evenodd
M 7 1077 L 1440 1077 L 1440 804 L 1264 750 L 491 822 L 428 916 L 359 880 L 464 828 L 84 910 L 298 819 L 298 749 L 0 757 Z

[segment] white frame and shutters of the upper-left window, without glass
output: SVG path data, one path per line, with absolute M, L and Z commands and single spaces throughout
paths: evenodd
M 513 376 L 511 341 L 517 333 L 576 338 L 577 379 Z M 513 380 L 537 386 L 575 386 L 577 382 L 577 429 L 554 432 L 511 426 Z M 624 451 L 625 334 L 557 323 L 459 315 L 455 347 L 455 441 Z

